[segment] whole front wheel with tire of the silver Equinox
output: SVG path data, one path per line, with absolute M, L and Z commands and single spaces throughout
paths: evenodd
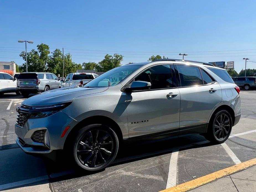
M 99 171 L 113 162 L 118 147 L 117 134 L 110 127 L 91 124 L 77 132 L 72 144 L 72 155 L 75 163 L 84 170 Z

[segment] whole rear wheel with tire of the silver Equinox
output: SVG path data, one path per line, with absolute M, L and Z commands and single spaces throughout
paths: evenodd
M 219 110 L 213 114 L 205 138 L 213 143 L 224 143 L 232 130 L 232 118 L 227 110 Z

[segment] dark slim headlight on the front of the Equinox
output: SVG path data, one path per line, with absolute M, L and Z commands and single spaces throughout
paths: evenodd
M 60 105 L 50 105 L 50 106 L 40 106 L 40 107 L 31 107 L 31 113 L 29 118 L 43 118 L 53 115 L 63 108 L 70 105 L 70 103 L 64 103 Z

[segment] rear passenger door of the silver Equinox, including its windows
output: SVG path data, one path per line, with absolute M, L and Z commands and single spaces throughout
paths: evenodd
M 213 109 L 221 102 L 221 87 L 196 66 L 175 65 L 180 92 L 180 134 L 203 133 Z

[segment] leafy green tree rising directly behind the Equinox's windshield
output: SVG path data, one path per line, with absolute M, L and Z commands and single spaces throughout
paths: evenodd
M 116 68 L 121 66 L 121 61 L 123 61 L 123 56 L 114 54 L 112 55 L 105 55 L 104 59 L 99 62 L 99 67 L 97 67 L 97 71 L 106 72 L 110 69 Z

